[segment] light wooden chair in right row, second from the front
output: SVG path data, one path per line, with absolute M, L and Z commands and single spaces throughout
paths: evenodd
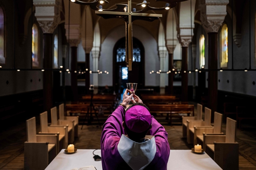
M 213 127 L 194 127 L 194 144 L 201 144 L 203 149 L 205 149 L 204 144 L 204 135 L 224 135 L 221 132 L 222 126 L 222 114 L 214 112 L 214 125 Z

